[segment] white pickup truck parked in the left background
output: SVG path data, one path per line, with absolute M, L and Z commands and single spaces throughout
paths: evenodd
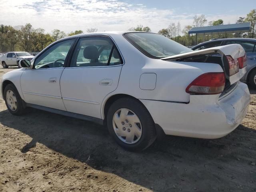
M 19 66 L 19 61 L 22 59 L 31 60 L 34 58 L 28 52 L 8 52 L 1 58 L 1 64 L 3 68 L 8 68 L 9 66 Z

